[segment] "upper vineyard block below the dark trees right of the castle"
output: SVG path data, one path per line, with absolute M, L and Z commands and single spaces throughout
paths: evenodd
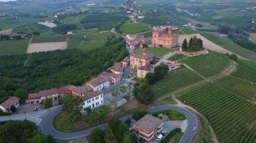
M 206 55 L 188 57 L 182 61 L 204 77 L 221 73 L 230 64 L 229 57 L 210 52 Z

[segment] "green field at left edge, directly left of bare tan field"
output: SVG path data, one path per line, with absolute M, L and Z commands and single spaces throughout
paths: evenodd
M 11 54 L 24 54 L 27 52 L 29 39 L 0 41 L 0 56 Z

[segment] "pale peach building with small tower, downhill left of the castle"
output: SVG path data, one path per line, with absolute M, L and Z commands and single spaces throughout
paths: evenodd
M 132 69 L 138 69 L 142 66 L 150 64 L 153 56 L 147 54 L 147 49 L 143 49 L 142 54 L 131 54 L 130 56 L 130 66 Z

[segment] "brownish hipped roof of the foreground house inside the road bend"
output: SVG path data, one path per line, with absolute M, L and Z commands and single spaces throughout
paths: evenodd
M 150 114 L 147 114 L 145 117 L 142 117 L 134 125 L 142 129 L 152 132 L 156 127 L 159 127 L 163 122 L 157 117 L 153 117 Z

